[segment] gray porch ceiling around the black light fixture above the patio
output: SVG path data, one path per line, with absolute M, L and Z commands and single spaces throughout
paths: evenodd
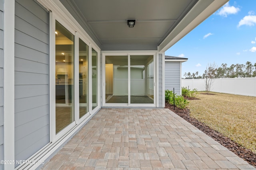
M 164 41 L 180 23 L 184 24 L 184 27 L 176 34 L 179 34 L 207 7 L 215 3 L 213 9 L 209 10 L 201 20 L 196 21 L 196 25 L 227 1 L 60 0 L 102 50 L 157 50 L 162 43 L 166 44 Z M 190 20 L 183 22 L 186 17 L 190 17 Z M 127 19 L 135 19 L 135 26 L 128 27 Z M 186 33 L 193 28 L 188 29 Z M 164 45 L 161 48 L 166 50 L 169 46 Z

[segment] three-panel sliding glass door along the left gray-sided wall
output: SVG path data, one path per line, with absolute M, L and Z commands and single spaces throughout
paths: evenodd
M 62 21 L 64 23 L 64 21 Z M 85 37 L 55 20 L 55 57 L 52 59 L 53 138 L 64 135 L 99 108 L 98 52 Z M 55 68 L 55 69 L 54 69 Z M 54 102 L 53 102 L 54 103 Z M 55 110 L 54 110 L 55 109 Z

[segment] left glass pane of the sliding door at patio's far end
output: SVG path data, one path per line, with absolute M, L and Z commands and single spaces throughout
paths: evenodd
M 106 103 L 128 104 L 128 56 L 106 56 Z

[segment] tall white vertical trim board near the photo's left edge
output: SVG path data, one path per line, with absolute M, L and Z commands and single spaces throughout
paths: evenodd
M 14 161 L 14 16 L 15 0 L 4 1 L 4 160 Z M 13 170 L 14 164 L 4 164 Z

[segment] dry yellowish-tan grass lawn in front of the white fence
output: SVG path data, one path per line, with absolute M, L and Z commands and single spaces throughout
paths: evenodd
M 190 100 L 190 116 L 256 153 L 256 97 L 198 94 Z

